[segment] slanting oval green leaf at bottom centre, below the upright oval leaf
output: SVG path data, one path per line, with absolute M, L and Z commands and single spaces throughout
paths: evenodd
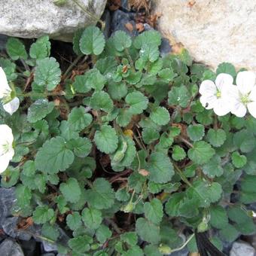
M 136 233 L 146 242 L 157 244 L 160 241 L 160 228 L 145 218 L 137 219 Z

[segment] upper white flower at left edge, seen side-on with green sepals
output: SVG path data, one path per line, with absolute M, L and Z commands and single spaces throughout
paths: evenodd
M 9 114 L 14 114 L 19 108 L 20 99 L 13 96 L 14 91 L 8 84 L 4 70 L 0 67 L 0 99 L 2 99 L 3 107 Z

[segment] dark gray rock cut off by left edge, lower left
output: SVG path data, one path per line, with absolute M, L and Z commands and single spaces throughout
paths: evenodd
M 15 200 L 14 187 L 0 187 L 0 227 L 5 223 L 5 219 L 11 216 L 11 208 Z

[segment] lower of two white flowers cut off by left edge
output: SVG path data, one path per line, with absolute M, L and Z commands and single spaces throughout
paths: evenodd
M 14 136 L 11 128 L 6 124 L 0 124 L 0 134 L 0 173 L 2 173 L 14 157 Z

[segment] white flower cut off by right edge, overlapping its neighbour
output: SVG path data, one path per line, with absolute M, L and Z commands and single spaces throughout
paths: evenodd
M 239 72 L 236 85 L 229 92 L 231 113 L 236 117 L 244 117 L 248 108 L 250 114 L 256 118 L 256 77 L 254 72 Z

